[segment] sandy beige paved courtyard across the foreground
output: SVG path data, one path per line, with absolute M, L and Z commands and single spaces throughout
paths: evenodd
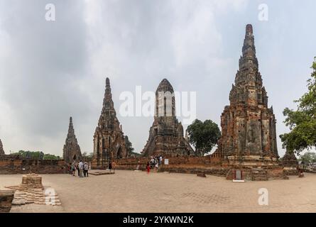
M 22 175 L 0 175 L 0 189 Z M 118 170 L 115 175 L 42 175 L 62 206 L 13 206 L 11 212 L 316 212 L 316 175 L 233 183 L 223 177 Z M 268 206 L 258 189 L 268 189 Z

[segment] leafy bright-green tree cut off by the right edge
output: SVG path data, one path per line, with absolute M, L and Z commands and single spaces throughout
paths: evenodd
M 280 135 L 283 148 L 300 153 L 316 145 L 316 57 L 312 63 L 312 73 L 307 79 L 308 91 L 295 100 L 298 108 L 285 108 L 285 125 L 290 128 L 290 133 Z

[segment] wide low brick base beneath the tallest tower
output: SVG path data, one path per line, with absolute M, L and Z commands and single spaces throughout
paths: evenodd
M 229 156 L 227 179 L 236 179 L 236 171 L 241 172 L 241 178 L 252 181 L 268 179 L 288 179 L 283 166 L 276 157 L 262 157 L 261 155 Z

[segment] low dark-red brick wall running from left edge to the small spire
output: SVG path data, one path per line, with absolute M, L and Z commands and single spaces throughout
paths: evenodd
M 25 174 L 61 174 L 67 172 L 64 160 L 0 160 L 0 175 Z

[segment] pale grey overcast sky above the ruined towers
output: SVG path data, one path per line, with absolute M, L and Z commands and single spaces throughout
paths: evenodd
M 50 3 L 55 21 L 45 20 Z M 261 3 L 268 6 L 268 21 L 258 20 Z M 106 77 L 123 131 L 137 152 L 153 117 L 119 114 L 119 95 L 135 94 L 137 85 L 154 92 L 167 78 L 175 91 L 197 92 L 197 118 L 220 125 L 247 23 L 254 26 L 277 134 L 285 133 L 282 111 L 295 108 L 293 100 L 306 91 L 316 56 L 315 9 L 315 0 L 0 0 L 4 150 L 62 155 L 72 116 L 82 152 L 92 152 Z M 279 138 L 278 151 L 284 154 Z

